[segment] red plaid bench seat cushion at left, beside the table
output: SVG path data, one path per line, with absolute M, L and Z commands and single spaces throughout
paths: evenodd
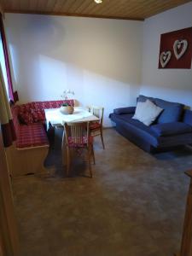
M 31 148 L 49 145 L 49 141 L 41 124 L 20 125 L 20 135 L 17 137 L 17 148 Z

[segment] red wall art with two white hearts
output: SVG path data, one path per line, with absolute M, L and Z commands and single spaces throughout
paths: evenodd
M 191 68 L 192 27 L 160 35 L 159 68 Z

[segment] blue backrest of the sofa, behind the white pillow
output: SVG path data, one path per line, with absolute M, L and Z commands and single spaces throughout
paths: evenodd
M 172 123 L 181 120 L 184 108 L 183 104 L 177 102 L 167 102 L 159 98 L 147 97 L 143 95 L 139 96 L 137 101 L 146 102 L 147 99 L 154 102 L 154 104 L 156 104 L 158 107 L 163 108 L 162 113 L 160 113 L 160 116 L 155 121 L 157 124 Z

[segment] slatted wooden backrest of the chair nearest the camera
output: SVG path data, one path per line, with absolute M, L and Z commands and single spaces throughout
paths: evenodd
M 89 122 L 78 122 L 78 123 L 65 123 L 65 137 L 66 143 L 69 142 L 73 144 L 84 144 L 86 141 L 87 146 L 89 146 L 89 138 L 90 138 L 90 123 Z M 86 140 L 84 140 L 84 138 Z

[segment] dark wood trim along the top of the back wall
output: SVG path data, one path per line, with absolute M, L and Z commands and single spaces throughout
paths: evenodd
M 73 16 L 73 17 L 84 17 L 84 18 L 98 18 L 98 19 L 114 19 L 114 20 L 138 20 L 143 21 L 144 19 L 134 17 L 117 17 L 117 16 L 105 16 L 105 15 L 79 15 L 79 14 L 67 14 L 58 12 L 41 12 L 41 11 L 28 11 L 28 10 L 9 10 L 5 9 L 5 13 L 9 14 L 26 14 L 26 15 L 54 15 L 54 16 Z

